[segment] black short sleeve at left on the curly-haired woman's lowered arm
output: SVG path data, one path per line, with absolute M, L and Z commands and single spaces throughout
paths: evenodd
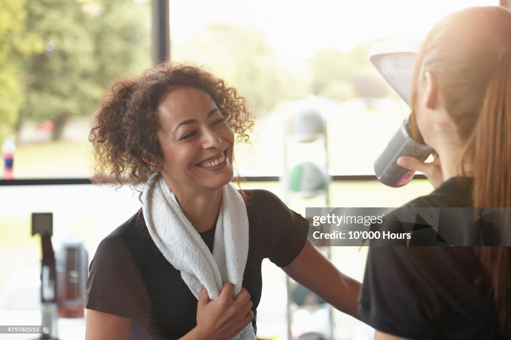
M 110 234 L 90 263 L 85 308 L 133 318 L 140 311 L 141 287 L 140 272 L 122 237 Z

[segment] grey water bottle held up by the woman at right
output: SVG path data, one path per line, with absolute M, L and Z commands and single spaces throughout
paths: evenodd
M 416 142 L 410 137 L 409 117 L 403 120 L 398 131 L 392 136 L 387 147 L 376 159 L 374 167 L 378 180 L 391 187 L 400 187 L 408 184 L 415 174 L 398 165 L 398 158 L 410 156 L 425 161 L 433 152 L 428 145 Z

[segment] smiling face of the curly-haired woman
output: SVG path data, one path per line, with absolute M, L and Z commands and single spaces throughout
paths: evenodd
M 158 171 L 177 197 L 218 190 L 233 179 L 234 133 L 210 95 L 179 87 L 158 111 Z

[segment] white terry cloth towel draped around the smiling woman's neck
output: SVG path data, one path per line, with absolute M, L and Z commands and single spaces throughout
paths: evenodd
M 223 187 L 213 254 L 161 175 L 148 179 L 142 203 L 144 220 L 156 247 L 181 272 L 197 300 L 201 285 L 212 300 L 220 295 L 223 282 L 234 284 L 235 295 L 240 292 L 248 256 L 248 216 L 245 202 L 233 184 Z M 252 323 L 233 339 L 255 339 Z

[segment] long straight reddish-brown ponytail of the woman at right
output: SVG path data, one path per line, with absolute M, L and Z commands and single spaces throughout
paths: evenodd
M 493 72 L 470 144 L 474 206 L 511 207 L 511 50 Z M 511 331 L 511 247 L 480 247 L 478 256 L 501 326 Z

